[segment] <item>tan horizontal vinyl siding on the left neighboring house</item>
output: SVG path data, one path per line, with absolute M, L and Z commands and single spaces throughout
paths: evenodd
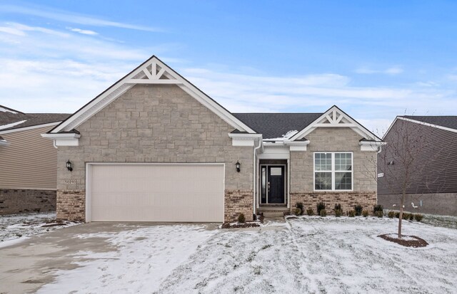
M 41 134 L 51 127 L 1 135 L 0 189 L 56 189 L 57 149 Z

